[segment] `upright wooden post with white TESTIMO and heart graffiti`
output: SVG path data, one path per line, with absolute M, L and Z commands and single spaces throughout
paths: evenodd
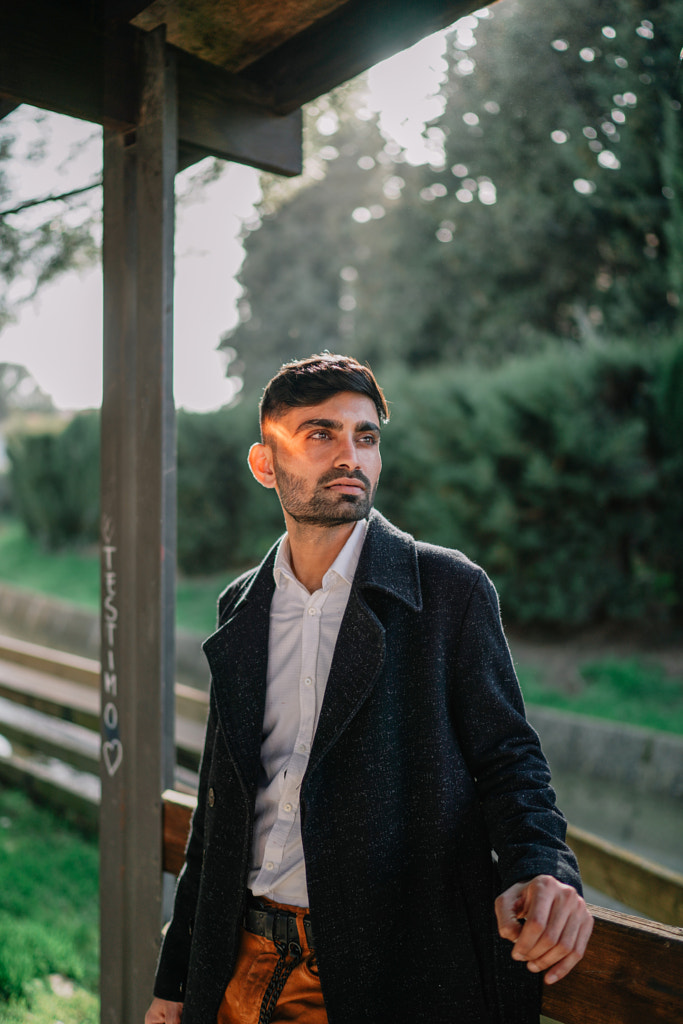
M 104 131 L 102 1024 L 141 1024 L 152 997 L 174 771 L 177 97 L 163 27 L 140 51 L 137 127 Z

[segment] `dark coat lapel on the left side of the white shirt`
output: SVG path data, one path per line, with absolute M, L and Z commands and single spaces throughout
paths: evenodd
M 244 783 L 256 786 L 268 668 L 273 548 L 225 623 L 204 642 L 218 720 Z

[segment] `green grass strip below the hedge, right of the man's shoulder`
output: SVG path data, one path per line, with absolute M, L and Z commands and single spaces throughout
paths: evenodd
M 683 735 L 683 679 L 667 675 L 658 665 L 610 657 L 587 663 L 581 676 L 581 689 L 566 693 L 540 680 L 537 673 L 519 670 L 530 705 Z

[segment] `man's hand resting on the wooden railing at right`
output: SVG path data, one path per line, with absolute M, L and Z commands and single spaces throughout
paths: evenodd
M 510 886 L 496 900 L 498 930 L 514 943 L 513 959 L 545 971 L 552 985 L 579 963 L 593 931 L 593 918 L 571 886 L 550 874 Z

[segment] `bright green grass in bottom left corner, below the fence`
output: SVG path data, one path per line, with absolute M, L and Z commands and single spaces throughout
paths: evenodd
M 3 1024 L 95 1024 L 97 900 L 96 843 L 23 793 L 0 792 Z M 55 994 L 50 976 L 70 979 L 74 994 Z

